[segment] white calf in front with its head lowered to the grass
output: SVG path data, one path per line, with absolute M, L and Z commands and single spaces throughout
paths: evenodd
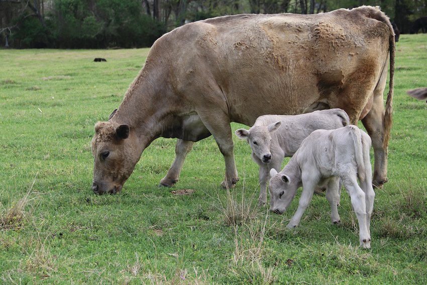
M 311 201 L 315 187 L 326 186 L 326 198 L 331 206 L 331 221 L 340 223 L 338 215 L 339 181 L 350 195 L 359 222 L 359 241 L 363 248 L 371 247 L 370 223 L 375 193 L 371 184 L 369 148 L 371 139 L 358 127 L 350 125 L 336 130 L 312 132 L 301 144 L 282 171 L 270 171 L 272 211 L 282 214 L 295 197 L 302 183 L 298 208 L 287 225 L 296 227 Z M 357 180 L 360 181 L 360 186 Z

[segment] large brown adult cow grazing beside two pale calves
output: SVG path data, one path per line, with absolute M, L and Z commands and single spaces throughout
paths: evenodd
M 382 185 L 393 70 L 393 28 L 374 7 L 225 16 L 184 25 L 154 43 L 117 113 L 96 123 L 92 190 L 119 192 L 158 137 L 178 138 L 175 161 L 161 180 L 171 186 L 193 142 L 210 135 L 224 155 L 223 185 L 231 187 L 239 178 L 230 122 L 251 126 L 264 114 L 325 108 L 345 110 L 352 124 L 362 120 L 375 151 L 373 183 Z

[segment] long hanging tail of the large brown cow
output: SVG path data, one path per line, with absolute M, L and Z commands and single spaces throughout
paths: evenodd
M 383 120 L 383 127 L 384 127 L 383 147 L 384 149 L 386 149 L 388 146 L 388 141 L 390 139 L 391 126 L 393 124 L 392 116 L 393 116 L 393 88 L 394 88 L 394 56 L 396 52 L 395 42 L 394 42 L 394 30 L 393 30 L 393 26 L 391 25 L 390 19 L 388 19 L 388 17 L 383 12 L 381 12 L 379 7 L 362 6 L 355 9 L 359 10 L 368 18 L 383 22 L 384 24 L 387 25 L 389 30 L 388 51 L 389 51 L 389 58 L 390 58 L 390 78 L 388 82 L 388 93 L 387 93 L 387 100 L 385 103 L 385 114 L 384 114 L 384 120 Z

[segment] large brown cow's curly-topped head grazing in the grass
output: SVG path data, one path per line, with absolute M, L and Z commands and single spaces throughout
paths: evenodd
M 96 194 L 118 193 L 138 162 L 137 137 L 128 125 L 114 122 L 95 124 L 92 139 L 93 184 Z

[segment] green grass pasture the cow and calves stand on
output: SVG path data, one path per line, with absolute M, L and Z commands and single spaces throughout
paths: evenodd
M 427 86 L 427 34 L 397 43 L 389 182 L 376 190 L 370 250 L 345 192 L 339 226 L 322 195 L 292 230 L 299 194 L 282 216 L 258 208 L 258 168 L 237 137 L 230 192 L 210 137 L 173 188 L 157 186 L 176 142 L 160 138 L 121 194 L 92 194 L 93 125 L 147 53 L 0 50 L 0 283 L 427 283 L 427 105 L 405 93 Z M 195 192 L 171 193 L 183 188 Z

